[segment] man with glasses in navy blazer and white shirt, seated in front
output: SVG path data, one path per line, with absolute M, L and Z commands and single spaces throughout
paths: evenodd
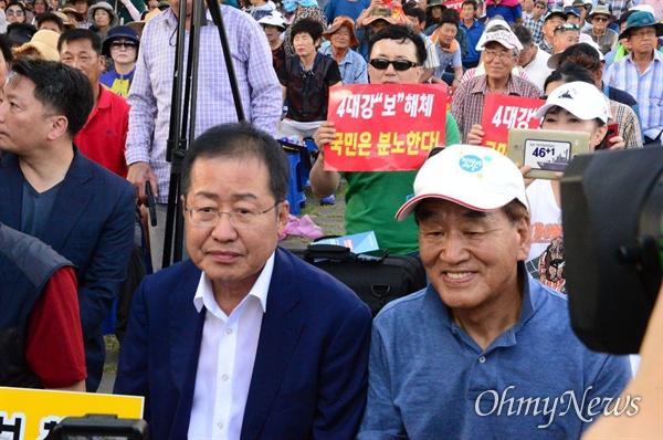
M 371 315 L 276 247 L 290 167 L 248 124 L 203 133 L 182 171 L 190 260 L 135 294 L 115 392 L 145 396 L 154 439 L 351 439 Z

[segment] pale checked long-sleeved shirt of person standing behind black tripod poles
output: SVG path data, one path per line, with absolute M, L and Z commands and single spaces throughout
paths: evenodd
M 267 40 L 251 15 L 225 6 L 221 6 L 221 11 L 246 121 L 274 135 L 281 117 L 282 94 Z M 238 121 L 219 31 L 209 11 L 207 20 L 207 25 L 200 29 L 196 136 L 212 126 Z M 127 96 L 131 106 L 125 153 L 127 164 L 150 164 L 157 175 L 158 203 L 168 201 L 170 181 L 166 142 L 170 123 L 177 25 L 171 9 L 146 23 L 134 82 Z M 188 52 L 187 31 L 185 64 Z

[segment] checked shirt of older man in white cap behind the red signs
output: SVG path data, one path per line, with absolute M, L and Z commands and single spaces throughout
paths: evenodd
M 461 142 L 463 144 L 467 143 L 467 134 L 472 126 L 474 124 L 481 124 L 486 93 L 491 93 L 486 75 L 475 76 L 471 80 L 463 81 L 453 93 L 451 114 L 456 119 L 459 130 L 461 132 Z M 512 96 L 539 97 L 540 91 L 529 81 L 523 80 L 519 76 L 514 76 L 512 73 L 508 76 L 508 83 L 506 84 L 504 94 Z

